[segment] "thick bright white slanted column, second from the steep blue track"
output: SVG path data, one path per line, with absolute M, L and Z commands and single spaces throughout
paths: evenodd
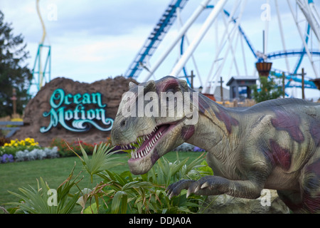
M 198 32 L 197 36 L 193 39 L 192 43 L 186 50 L 186 53 L 183 54 L 183 56 L 180 58 L 174 69 L 171 71 L 171 76 L 178 76 L 178 73 L 181 71 L 183 66 L 188 61 L 188 58 L 190 58 L 191 53 L 196 49 L 200 41 L 202 40 L 203 36 L 206 34 L 208 29 L 210 28 L 213 21 L 216 19 L 220 11 L 223 10 L 223 6 L 227 3 L 228 0 L 220 0 L 218 1 L 218 4 L 215 5 L 213 8 L 213 11 L 211 11 L 210 15 L 206 19 L 205 23 L 201 27 L 200 31 Z

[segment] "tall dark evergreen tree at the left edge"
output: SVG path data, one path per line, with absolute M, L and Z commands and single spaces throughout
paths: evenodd
M 11 24 L 4 22 L 0 11 L 0 117 L 13 113 L 12 96 L 16 89 L 16 113 L 23 113 L 23 108 L 30 100 L 28 88 L 32 73 L 25 61 L 28 56 L 23 36 L 14 36 Z

